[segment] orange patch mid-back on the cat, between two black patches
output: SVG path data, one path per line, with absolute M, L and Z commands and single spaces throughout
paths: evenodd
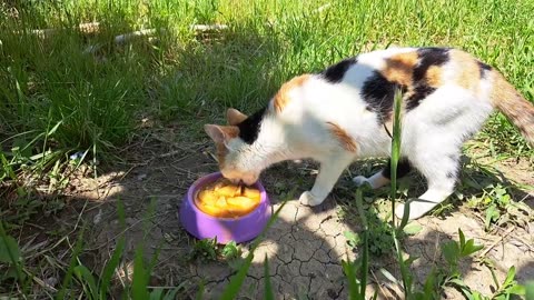
M 412 86 L 412 73 L 417 63 L 417 52 L 395 54 L 386 59 L 386 67 L 380 71 L 387 80 L 400 86 Z

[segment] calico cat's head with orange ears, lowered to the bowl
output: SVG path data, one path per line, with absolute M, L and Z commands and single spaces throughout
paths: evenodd
M 243 181 L 245 184 L 253 184 L 258 180 L 261 170 L 251 161 L 255 156 L 251 143 L 244 141 L 239 134 L 241 123 L 248 117 L 236 109 L 228 109 L 226 117 L 228 126 L 204 126 L 217 148 L 220 172 L 235 183 Z

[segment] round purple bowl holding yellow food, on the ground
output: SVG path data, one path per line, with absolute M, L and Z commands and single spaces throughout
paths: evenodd
M 229 241 L 245 242 L 256 238 L 264 230 L 271 214 L 269 198 L 259 181 L 254 186 L 260 192 L 259 206 L 239 218 L 212 217 L 198 209 L 195 204 L 197 191 L 220 177 L 220 172 L 210 173 L 197 179 L 189 187 L 180 207 L 181 224 L 187 232 L 198 239 L 217 237 L 218 243 L 227 243 Z

